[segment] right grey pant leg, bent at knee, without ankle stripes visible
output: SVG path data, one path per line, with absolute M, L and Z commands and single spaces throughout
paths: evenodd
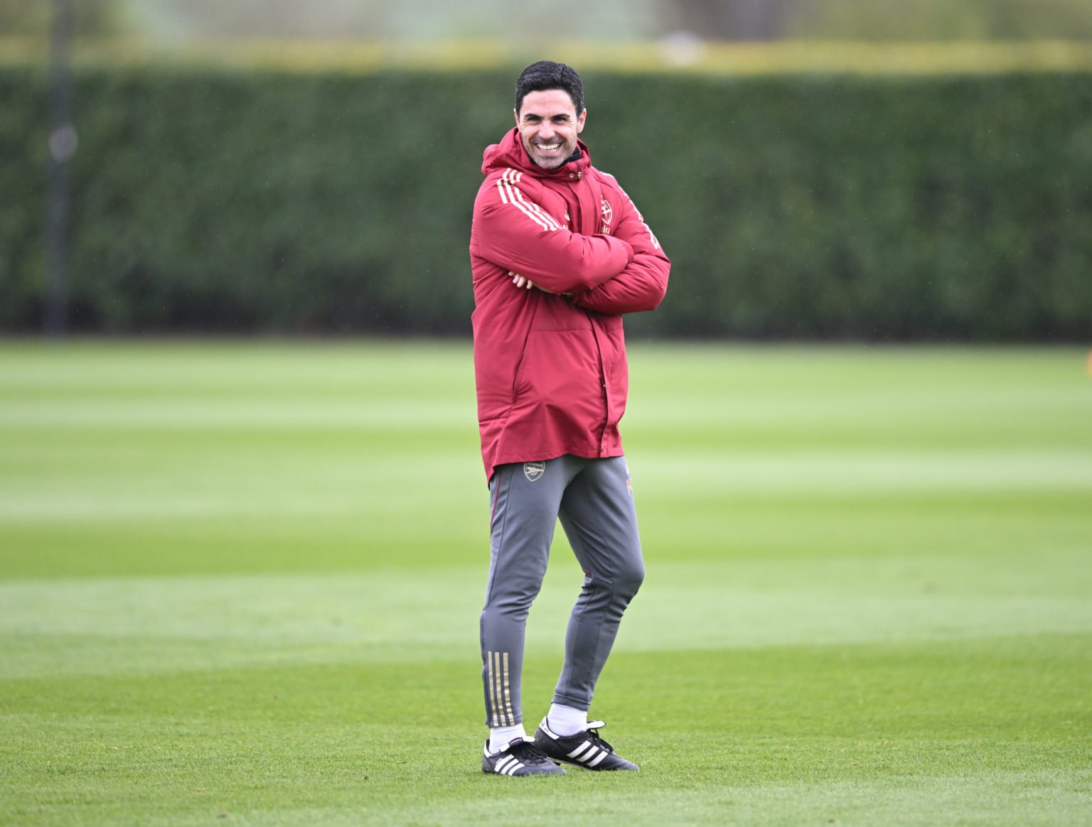
M 587 709 L 621 615 L 644 579 L 625 458 L 589 460 L 566 489 L 559 516 L 584 585 L 569 618 L 554 703 Z

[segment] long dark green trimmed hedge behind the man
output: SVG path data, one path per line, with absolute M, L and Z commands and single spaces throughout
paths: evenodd
M 513 71 L 82 69 L 71 320 L 460 334 Z M 674 262 L 637 335 L 1092 336 L 1092 76 L 587 73 L 584 139 Z M 0 69 L 0 331 L 45 295 L 45 73 Z

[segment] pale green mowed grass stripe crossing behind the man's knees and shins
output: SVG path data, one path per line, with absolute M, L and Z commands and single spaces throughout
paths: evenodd
M 617 651 L 1092 634 L 1092 601 L 1065 577 L 1078 553 L 1034 571 L 959 558 L 649 562 Z M 580 572 L 555 561 L 529 624 L 560 652 Z M 867 589 L 860 587 L 868 584 Z M 95 578 L 0 585 L 0 676 L 170 672 L 283 663 L 474 662 L 482 573 Z

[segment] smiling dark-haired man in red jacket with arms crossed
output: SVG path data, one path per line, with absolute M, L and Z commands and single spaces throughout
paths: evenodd
M 615 179 L 591 164 L 583 85 L 563 63 L 527 67 L 515 129 L 485 151 L 474 202 L 474 368 L 491 501 L 482 611 L 490 728 L 482 769 L 558 775 L 559 762 L 637 769 L 587 721 L 622 612 L 644 577 L 618 420 L 628 371 L 621 315 L 654 309 L 670 262 Z M 523 728 L 524 628 L 554 526 L 583 589 L 565 638 L 554 702 Z

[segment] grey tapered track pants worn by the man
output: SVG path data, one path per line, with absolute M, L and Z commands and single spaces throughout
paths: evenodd
M 523 720 L 524 630 L 559 517 L 584 584 L 569 618 L 554 703 L 587 709 L 622 612 L 644 578 L 626 460 L 562 456 L 502 465 L 489 493 L 489 579 L 482 610 L 486 726 Z

